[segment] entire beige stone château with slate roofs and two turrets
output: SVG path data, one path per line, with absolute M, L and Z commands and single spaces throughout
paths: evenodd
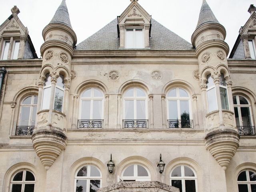
M 138 0 L 77 44 L 62 0 L 39 59 L 14 6 L 0 25 L 0 190 L 256 192 L 255 10 L 227 58 L 205 0 L 192 44 Z

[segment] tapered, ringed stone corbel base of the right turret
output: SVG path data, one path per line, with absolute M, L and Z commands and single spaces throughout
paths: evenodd
M 230 160 L 236 154 L 239 139 L 238 132 L 232 129 L 215 130 L 206 135 L 206 149 L 210 151 L 223 170 L 226 170 Z

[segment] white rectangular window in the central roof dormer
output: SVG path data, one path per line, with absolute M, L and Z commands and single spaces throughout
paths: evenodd
M 140 28 L 126 29 L 125 48 L 145 48 L 143 29 L 140 29 Z

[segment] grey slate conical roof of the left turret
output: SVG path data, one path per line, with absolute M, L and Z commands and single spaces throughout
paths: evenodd
M 65 0 L 62 0 L 60 6 L 56 10 L 49 24 L 51 23 L 63 23 L 63 24 L 66 24 L 67 26 L 70 26 L 70 28 L 72 28 L 70 19 L 69 19 L 68 8 Z

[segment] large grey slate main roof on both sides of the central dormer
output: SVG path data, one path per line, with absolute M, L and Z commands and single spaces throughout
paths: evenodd
M 192 44 L 168 30 L 156 20 L 151 20 L 151 50 L 194 50 Z M 76 45 L 76 50 L 118 50 L 117 19 Z

